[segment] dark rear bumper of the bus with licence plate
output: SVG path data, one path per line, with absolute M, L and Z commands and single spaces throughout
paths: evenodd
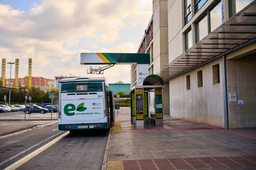
M 107 123 L 59 124 L 60 131 L 81 130 L 81 129 L 107 129 Z

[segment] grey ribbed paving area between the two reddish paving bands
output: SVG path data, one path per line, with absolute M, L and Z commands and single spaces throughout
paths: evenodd
M 250 156 L 256 141 L 218 130 L 109 134 L 108 160 Z

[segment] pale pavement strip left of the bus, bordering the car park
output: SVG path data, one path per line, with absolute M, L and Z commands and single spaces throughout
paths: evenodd
M 4 117 L 3 113 L 0 114 L 0 137 L 8 134 L 12 134 L 19 131 L 24 131 L 26 129 L 31 129 L 38 125 L 50 124 L 51 122 L 56 122 L 56 113 L 45 113 L 45 114 L 31 114 L 26 115 L 26 120 L 24 115 L 8 115 Z

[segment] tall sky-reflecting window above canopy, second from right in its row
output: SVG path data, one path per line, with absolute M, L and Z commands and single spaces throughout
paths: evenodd
M 221 24 L 223 24 L 223 13 L 222 3 L 220 2 L 210 11 L 210 31 L 214 31 Z

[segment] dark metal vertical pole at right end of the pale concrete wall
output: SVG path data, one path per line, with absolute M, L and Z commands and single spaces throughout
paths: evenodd
M 228 129 L 228 97 L 227 97 L 227 62 L 226 56 L 222 56 L 223 67 L 223 97 L 224 97 L 224 117 L 225 117 L 225 129 Z

